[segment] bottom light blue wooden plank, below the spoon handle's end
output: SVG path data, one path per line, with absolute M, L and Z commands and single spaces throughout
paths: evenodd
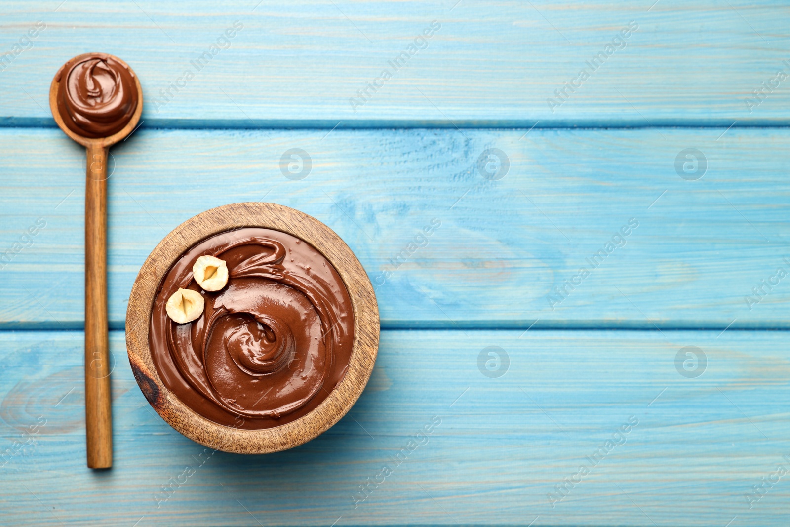
M 788 525 L 786 476 L 751 509 L 744 497 L 790 467 L 787 332 L 521 333 L 384 331 L 370 385 L 327 433 L 280 454 L 209 452 L 201 463 L 201 446 L 145 402 L 123 335 L 111 332 L 115 465 L 91 472 L 81 333 L 0 332 L 0 451 L 13 454 L 2 461 L 4 522 Z M 479 370 L 488 346 L 509 356 L 501 377 Z M 686 346 L 705 353 L 697 378 L 675 367 Z M 432 418 L 441 423 L 409 446 Z M 615 435 L 629 420 L 638 423 Z M 607 447 L 613 435 L 620 444 Z M 555 485 L 602 446 L 552 508 Z M 383 465 L 389 476 L 378 476 Z M 185 467 L 195 473 L 179 478 Z M 378 488 L 353 499 L 368 478 Z

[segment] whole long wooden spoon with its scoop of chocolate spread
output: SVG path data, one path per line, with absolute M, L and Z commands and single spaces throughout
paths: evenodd
M 85 435 L 88 467 L 112 466 L 107 342 L 107 152 L 137 126 L 143 92 L 120 58 L 88 53 L 66 62 L 50 87 L 55 122 L 85 146 Z

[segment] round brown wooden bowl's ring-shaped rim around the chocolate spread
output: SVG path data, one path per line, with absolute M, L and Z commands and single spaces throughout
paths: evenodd
M 352 355 L 340 384 L 307 415 L 264 430 L 226 427 L 195 412 L 167 390 L 154 367 L 149 347 L 157 288 L 182 253 L 202 239 L 237 228 L 261 227 L 286 232 L 310 243 L 337 270 L 352 299 Z M 354 405 L 371 376 L 378 352 L 378 305 L 371 280 L 352 250 L 332 229 L 307 214 L 273 203 L 235 203 L 205 211 L 178 227 L 152 250 L 137 274 L 126 310 L 126 348 L 145 398 L 171 427 L 213 450 L 268 454 L 310 441 L 337 423 Z

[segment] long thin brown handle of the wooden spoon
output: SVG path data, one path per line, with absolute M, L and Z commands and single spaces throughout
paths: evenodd
M 88 145 L 85 179 L 85 435 L 88 467 L 112 466 L 107 342 L 107 147 Z

